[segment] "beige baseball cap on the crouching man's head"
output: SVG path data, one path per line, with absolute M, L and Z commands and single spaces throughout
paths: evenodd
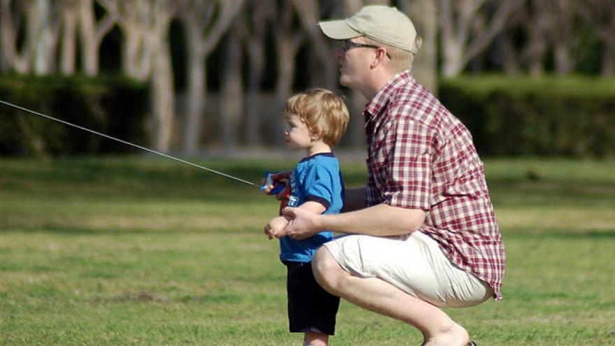
M 324 20 L 318 23 L 322 32 L 335 40 L 366 36 L 374 41 L 416 53 L 417 29 L 410 18 L 397 8 L 365 6 L 345 20 Z

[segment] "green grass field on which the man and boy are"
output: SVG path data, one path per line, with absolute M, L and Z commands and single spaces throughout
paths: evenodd
M 345 160 L 349 187 L 361 161 Z M 259 181 L 294 160 L 211 160 Z M 447 310 L 479 345 L 615 345 L 615 161 L 486 160 L 500 303 Z M 301 345 L 262 227 L 277 202 L 173 161 L 0 159 L 0 345 Z M 419 345 L 342 302 L 331 345 Z

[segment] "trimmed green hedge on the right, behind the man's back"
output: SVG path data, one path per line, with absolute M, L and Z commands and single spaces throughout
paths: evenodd
M 440 82 L 483 155 L 615 154 L 615 79 L 486 75 Z

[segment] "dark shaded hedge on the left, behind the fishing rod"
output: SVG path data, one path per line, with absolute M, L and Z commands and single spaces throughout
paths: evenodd
M 0 76 L 0 99 L 145 145 L 147 85 L 123 77 Z M 129 152 L 113 140 L 0 104 L 0 154 Z

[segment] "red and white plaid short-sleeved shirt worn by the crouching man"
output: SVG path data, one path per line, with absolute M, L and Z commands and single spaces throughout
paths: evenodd
M 419 231 L 454 264 L 488 282 L 499 300 L 504 243 L 470 131 L 409 71 L 390 80 L 363 116 L 368 206 L 425 210 Z

